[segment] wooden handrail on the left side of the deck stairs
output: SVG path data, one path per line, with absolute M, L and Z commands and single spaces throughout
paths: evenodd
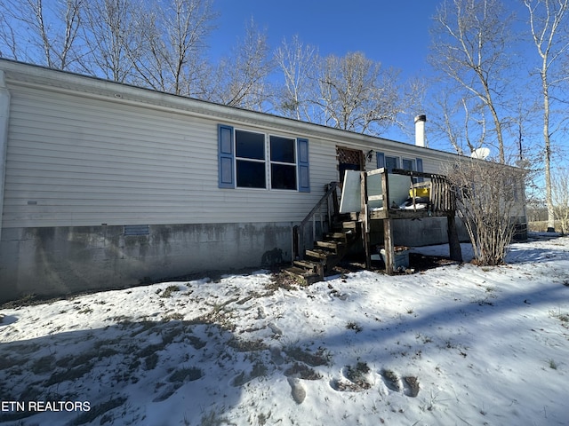
M 331 182 L 326 185 L 326 192 L 320 201 L 318 201 L 314 208 L 310 210 L 309 214 L 302 219 L 300 225 L 293 226 L 293 260 L 301 259 L 304 255 L 304 248 L 306 248 L 304 231 L 306 225 L 312 222 L 312 241 L 316 241 L 317 237 L 321 236 L 317 234 L 317 222 L 320 223 L 320 233 L 324 233 L 325 215 L 327 223 L 330 225 L 332 224 L 333 216 L 337 215 L 340 211 L 336 193 L 337 188 L 338 182 Z M 325 210 L 325 214 L 323 210 Z

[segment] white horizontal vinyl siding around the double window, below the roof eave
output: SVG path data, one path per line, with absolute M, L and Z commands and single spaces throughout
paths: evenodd
M 310 138 L 311 193 L 222 191 L 218 121 L 10 90 L 4 227 L 300 221 L 337 178 L 335 147 Z

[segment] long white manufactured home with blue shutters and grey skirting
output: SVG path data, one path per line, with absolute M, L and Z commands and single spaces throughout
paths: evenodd
M 0 301 L 290 262 L 344 170 L 455 155 L 0 59 Z M 402 244 L 446 241 L 438 218 Z

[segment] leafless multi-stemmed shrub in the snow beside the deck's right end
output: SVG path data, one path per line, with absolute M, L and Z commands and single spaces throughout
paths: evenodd
M 477 264 L 503 264 L 523 216 L 524 170 L 463 158 L 446 170 Z

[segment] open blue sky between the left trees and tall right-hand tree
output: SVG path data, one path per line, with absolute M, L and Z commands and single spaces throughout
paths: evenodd
M 395 67 L 404 77 L 428 71 L 429 27 L 438 0 L 214 0 L 219 28 L 212 51 L 236 44 L 251 20 L 265 28 L 271 47 L 298 35 L 321 55 L 363 51 L 369 59 Z M 227 51 L 228 52 L 228 51 Z M 226 53 L 227 53 L 226 52 Z

